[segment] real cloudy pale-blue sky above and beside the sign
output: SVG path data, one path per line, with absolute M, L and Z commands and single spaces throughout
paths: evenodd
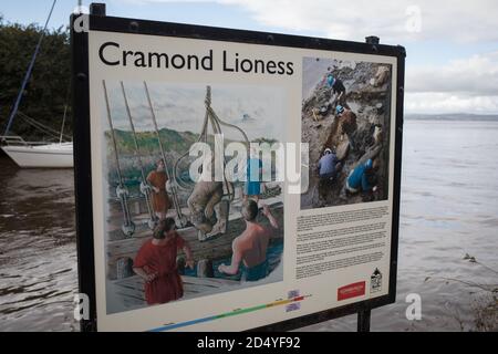
M 496 0 L 101 0 L 107 14 L 406 48 L 406 113 L 498 114 Z M 89 1 L 83 1 L 89 6 Z M 6 21 L 44 23 L 52 0 L 0 0 Z M 59 0 L 51 28 L 76 0 Z

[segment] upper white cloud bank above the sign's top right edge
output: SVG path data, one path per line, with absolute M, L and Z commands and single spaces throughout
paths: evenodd
M 172 0 L 127 0 L 135 3 Z M 312 31 L 345 40 L 375 34 L 383 42 L 406 40 L 498 41 L 496 0 L 187 0 L 237 6 L 260 24 L 292 32 Z

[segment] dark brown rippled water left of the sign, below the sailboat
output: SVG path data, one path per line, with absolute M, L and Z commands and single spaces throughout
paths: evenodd
M 73 171 L 0 166 L 0 330 L 74 331 Z

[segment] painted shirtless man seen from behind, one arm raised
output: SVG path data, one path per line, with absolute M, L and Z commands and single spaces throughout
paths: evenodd
M 240 263 L 242 263 L 242 280 L 245 281 L 257 281 L 268 275 L 267 249 L 273 231 L 256 221 L 258 211 L 258 204 L 255 200 L 249 199 L 243 204 L 241 214 L 246 220 L 246 230 L 236 237 L 231 244 L 234 250 L 231 264 L 220 264 L 219 272 L 235 275 L 239 272 Z M 277 219 L 267 205 L 263 205 L 262 214 L 273 229 L 279 228 Z

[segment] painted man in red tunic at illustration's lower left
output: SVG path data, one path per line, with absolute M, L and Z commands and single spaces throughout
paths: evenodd
M 166 303 L 184 295 L 181 278 L 178 274 L 176 257 L 183 249 L 186 266 L 194 269 L 194 258 L 188 246 L 175 230 L 175 220 L 160 220 L 153 239 L 146 241 L 135 257 L 133 271 L 145 280 L 147 304 Z

